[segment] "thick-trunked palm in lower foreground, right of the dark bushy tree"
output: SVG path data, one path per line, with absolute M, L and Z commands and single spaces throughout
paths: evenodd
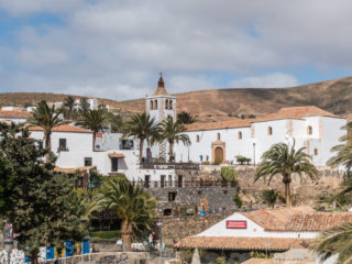
M 114 211 L 122 220 L 122 240 L 127 251 L 132 251 L 132 237 L 151 229 L 157 200 L 127 179 L 111 178 L 105 183 L 101 191 L 100 204 L 106 205 L 107 209 Z

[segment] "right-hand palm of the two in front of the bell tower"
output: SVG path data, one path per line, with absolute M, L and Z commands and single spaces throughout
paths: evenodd
M 174 122 L 174 119 L 167 118 L 162 122 L 162 140 L 168 142 L 169 161 L 174 158 L 174 144 L 182 141 L 185 145 L 190 145 L 190 140 L 187 134 L 183 134 L 187 128 L 180 122 Z

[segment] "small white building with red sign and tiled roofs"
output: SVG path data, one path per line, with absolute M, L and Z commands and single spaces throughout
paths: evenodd
M 201 249 L 215 256 L 232 254 L 243 262 L 250 258 L 250 252 L 308 249 L 321 232 L 351 221 L 352 212 L 322 212 L 310 207 L 235 212 L 204 232 L 180 240 L 176 246 Z

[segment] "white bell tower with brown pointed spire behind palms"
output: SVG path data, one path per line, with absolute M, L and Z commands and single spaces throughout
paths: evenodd
M 154 118 L 155 123 L 162 123 L 167 118 L 173 118 L 176 122 L 176 97 L 167 92 L 163 74 L 161 73 L 160 76 L 153 96 L 145 97 L 145 112 L 150 114 L 151 119 Z M 158 156 L 166 160 L 166 142 L 158 143 L 156 146 Z

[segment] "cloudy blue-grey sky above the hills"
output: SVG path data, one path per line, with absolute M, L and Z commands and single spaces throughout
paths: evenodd
M 351 0 L 0 0 L 0 92 L 118 100 L 351 75 Z

